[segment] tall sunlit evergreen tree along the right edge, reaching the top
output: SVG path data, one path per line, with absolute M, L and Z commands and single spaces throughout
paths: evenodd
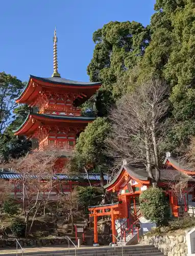
M 165 79 L 170 87 L 169 117 L 172 125 L 162 151 L 183 154 L 195 134 L 195 44 L 193 0 L 157 0 L 151 19 L 151 42 L 133 77 L 137 84 L 151 76 Z M 131 84 L 130 83 L 130 84 Z

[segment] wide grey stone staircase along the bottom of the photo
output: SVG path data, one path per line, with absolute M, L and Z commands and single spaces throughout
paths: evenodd
M 134 245 L 134 246 L 124 246 L 123 252 L 122 247 L 81 247 L 77 248 L 77 251 L 75 251 L 75 248 L 70 248 L 70 251 L 68 252 L 67 248 L 64 248 L 64 250 L 51 250 L 50 251 L 36 251 L 36 248 L 34 248 L 34 252 L 23 252 L 23 254 L 18 252 L 18 256 L 20 255 L 28 255 L 28 256 L 163 256 L 164 254 L 158 250 L 158 248 L 155 248 L 152 245 Z M 42 247 L 42 249 L 44 249 Z M 48 248 L 47 248 L 48 249 Z M 0 254 L 1 250 L 0 250 Z M 5 253 L 3 255 L 7 256 L 15 256 L 15 253 Z

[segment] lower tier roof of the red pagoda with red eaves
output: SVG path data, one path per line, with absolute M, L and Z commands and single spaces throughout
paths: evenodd
M 15 135 L 32 135 L 41 122 L 53 122 L 53 123 L 83 123 L 87 124 L 95 120 L 94 117 L 83 117 L 83 116 L 62 116 L 52 114 L 37 114 L 29 113 L 26 120 L 14 130 Z

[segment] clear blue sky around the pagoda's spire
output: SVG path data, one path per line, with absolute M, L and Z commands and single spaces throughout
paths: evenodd
M 1 1 L 0 72 L 22 81 L 53 73 L 53 33 L 57 27 L 61 77 L 88 81 L 92 33 L 108 22 L 135 20 L 148 25 L 155 0 Z

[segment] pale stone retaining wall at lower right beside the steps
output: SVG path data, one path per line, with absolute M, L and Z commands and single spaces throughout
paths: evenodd
M 187 244 L 185 234 L 178 236 L 144 236 L 140 239 L 140 244 L 154 245 L 167 256 L 186 256 Z

